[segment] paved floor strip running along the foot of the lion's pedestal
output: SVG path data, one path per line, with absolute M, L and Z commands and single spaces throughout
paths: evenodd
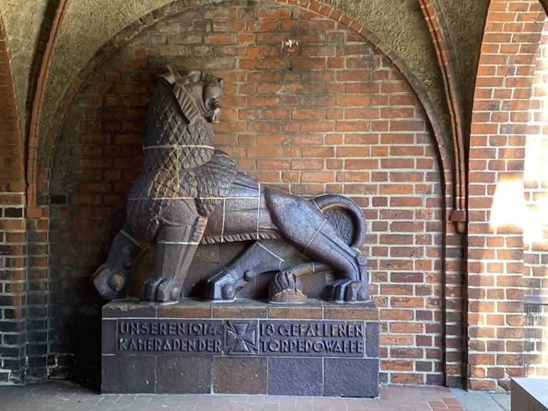
M 444 387 L 382 387 L 380 398 L 268 397 L 261 395 L 98 395 L 56 381 L 0 386 L 0 411 L 503 411 L 503 397 Z M 455 398 L 461 397 L 463 408 Z M 494 400 L 496 398 L 496 400 Z M 468 407 L 468 405 L 470 407 Z M 480 404 L 480 407 L 475 405 Z M 499 405 L 502 404 L 502 405 Z M 498 407 L 498 408 L 497 408 Z

